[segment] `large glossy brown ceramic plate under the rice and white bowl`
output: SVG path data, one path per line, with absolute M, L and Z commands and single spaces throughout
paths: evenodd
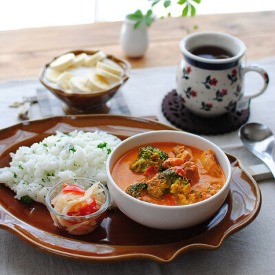
M 165 124 L 123 115 L 80 115 L 23 122 L 0 131 L 0 166 L 8 166 L 10 152 L 30 146 L 56 130 L 100 129 L 124 139 L 151 130 L 174 129 Z M 70 259 L 123 261 L 151 259 L 170 262 L 188 250 L 213 250 L 224 239 L 253 221 L 261 208 L 261 192 L 239 160 L 228 155 L 233 173 L 230 192 L 223 206 L 208 221 L 184 230 L 155 230 L 135 223 L 119 210 L 111 210 L 100 228 L 85 236 L 70 236 L 58 230 L 41 203 L 26 205 L 14 192 L 0 186 L 0 228 L 10 230 L 30 245 Z

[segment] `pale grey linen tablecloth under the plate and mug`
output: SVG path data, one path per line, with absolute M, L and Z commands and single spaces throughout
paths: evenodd
M 265 94 L 252 100 L 249 121 L 263 122 L 275 132 L 275 58 L 255 63 L 267 69 L 270 86 Z M 131 72 L 129 82 L 121 90 L 131 115 L 157 115 L 160 122 L 169 124 L 162 114 L 161 103 L 165 94 L 175 88 L 175 70 L 173 66 Z M 22 96 L 34 96 L 38 87 L 41 88 L 36 79 L 0 83 L 0 128 L 19 122 L 16 111 L 8 108 L 8 104 Z M 259 87 L 260 77 L 253 73 L 247 76 L 245 89 L 255 91 Z M 50 93 L 48 96 L 55 100 Z M 58 114 L 63 114 L 61 108 L 53 108 L 53 115 Z M 31 119 L 41 117 L 39 105 L 33 105 Z M 260 163 L 243 147 L 236 131 L 206 138 L 239 157 L 245 166 Z M 275 274 L 275 181 L 261 181 L 259 186 L 263 195 L 259 216 L 225 239 L 219 250 L 188 252 L 168 264 L 153 261 L 82 263 L 40 252 L 10 232 L 0 230 L 0 274 Z

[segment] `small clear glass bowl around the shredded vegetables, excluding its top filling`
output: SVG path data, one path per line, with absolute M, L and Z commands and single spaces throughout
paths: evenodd
M 101 208 L 93 214 L 72 217 L 57 212 L 56 210 L 54 210 L 51 204 L 52 199 L 61 192 L 63 184 L 76 185 L 80 186 L 84 190 L 87 190 L 87 188 L 89 188 L 96 182 L 97 181 L 94 181 L 93 179 L 86 179 L 84 177 L 66 179 L 65 181 L 58 182 L 58 184 L 54 185 L 50 189 L 50 191 L 47 192 L 45 203 L 47 209 L 50 211 L 52 219 L 54 220 L 54 225 L 56 225 L 58 228 L 61 228 L 62 230 L 65 230 L 69 234 L 84 235 L 94 231 L 100 225 L 100 223 L 102 223 L 110 203 L 110 195 L 107 188 L 101 183 L 99 183 L 99 186 L 104 190 L 106 201 L 101 206 Z

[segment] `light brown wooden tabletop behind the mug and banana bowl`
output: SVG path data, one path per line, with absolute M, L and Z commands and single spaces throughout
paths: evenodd
M 148 51 L 143 58 L 129 59 L 133 68 L 177 65 L 179 41 L 186 28 L 227 32 L 239 37 L 248 59 L 275 56 L 275 11 L 203 15 L 194 18 L 157 20 L 150 28 Z M 103 50 L 125 57 L 120 47 L 122 23 L 93 23 L 62 27 L 0 32 L 0 80 L 39 76 L 43 64 L 69 50 Z

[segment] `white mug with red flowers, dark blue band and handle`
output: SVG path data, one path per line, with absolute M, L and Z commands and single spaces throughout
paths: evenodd
M 219 47 L 232 56 L 209 59 L 192 54 L 198 47 Z M 221 32 L 199 32 L 181 40 L 183 54 L 177 69 L 177 94 L 184 105 L 201 116 L 217 116 L 231 111 L 236 103 L 260 96 L 267 89 L 268 75 L 258 65 L 244 66 L 241 58 L 245 54 L 244 43 L 234 36 Z M 243 76 L 246 72 L 257 72 L 264 80 L 261 91 L 254 94 L 243 92 Z

